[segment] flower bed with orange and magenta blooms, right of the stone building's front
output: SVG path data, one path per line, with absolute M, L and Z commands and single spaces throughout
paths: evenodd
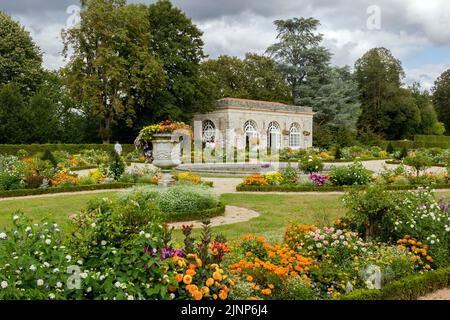
M 308 174 L 300 176 L 288 166 L 280 171 L 268 172 L 263 175 L 248 176 L 237 186 L 238 191 L 341 191 L 346 187 L 380 185 L 390 190 L 414 189 L 417 186 L 433 186 L 448 188 L 450 173 L 421 173 L 426 169 L 428 160 L 422 156 L 411 155 L 405 158 L 414 170 L 403 164 L 394 169 L 384 169 L 374 174 L 366 169 L 360 161 L 347 166 L 332 166 L 327 174 L 317 171 L 322 167 L 320 160 L 305 158 L 300 161 L 299 168 Z

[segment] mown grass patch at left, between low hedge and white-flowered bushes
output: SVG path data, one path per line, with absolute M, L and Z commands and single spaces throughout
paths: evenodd
M 0 229 L 11 225 L 12 214 L 18 210 L 35 222 L 48 218 L 64 228 L 69 221 L 69 216 L 80 212 L 90 200 L 111 196 L 115 193 L 117 191 L 2 200 L 0 201 Z

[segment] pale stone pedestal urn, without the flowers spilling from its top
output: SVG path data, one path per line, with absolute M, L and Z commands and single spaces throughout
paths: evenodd
M 160 186 L 167 187 L 173 183 L 170 172 L 181 164 L 181 135 L 175 133 L 159 133 L 153 135 L 153 165 L 160 168 L 163 178 Z

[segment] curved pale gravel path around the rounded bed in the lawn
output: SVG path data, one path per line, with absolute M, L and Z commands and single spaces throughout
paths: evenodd
M 211 227 L 218 227 L 227 224 L 246 222 L 257 217 L 259 217 L 259 212 L 247 208 L 226 206 L 225 214 L 223 216 L 211 218 L 210 221 Z M 170 223 L 169 226 L 180 229 L 182 225 L 191 225 L 191 224 L 194 225 L 194 228 L 200 228 L 202 226 L 202 223 L 199 220 L 174 222 Z

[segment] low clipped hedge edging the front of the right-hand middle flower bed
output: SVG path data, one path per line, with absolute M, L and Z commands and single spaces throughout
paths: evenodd
M 299 186 L 299 185 L 278 185 L 278 186 L 251 186 L 239 184 L 236 186 L 236 191 L 251 191 L 251 192 L 330 192 L 330 191 L 348 191 L 360 189 L 364 190 L 371 185 L 364 186 Z M 433 189 L 450 189 L 450 184 L 432 184 L 427 185 Z M 424 185 L 384 185 L 386 190 L 415 190 Z

